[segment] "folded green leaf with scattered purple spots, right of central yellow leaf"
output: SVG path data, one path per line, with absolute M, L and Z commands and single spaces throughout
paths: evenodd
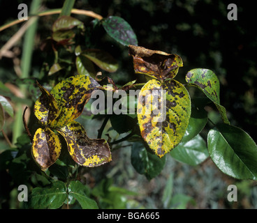
M 221 114 L 221 118 L 223 123 L 229 124 L 228 118 L 226 116 L 226 109 L 220 105 L 219 99 L 219 79 L 216 77 L 212 70 L 196 68 L 190 70 L 186 74 L 186 82 L 189 85 L 197 86 L 198 89 L 203 91 L 205 95 L 214 102 L 219 113 Z

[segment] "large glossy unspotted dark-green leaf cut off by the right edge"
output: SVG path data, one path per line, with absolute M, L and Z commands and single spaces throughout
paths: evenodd
M 257 146 L 244 130 L 233 125 L 219 124 L 207 137 L 210 157 L 228 176 L 257 179 Z

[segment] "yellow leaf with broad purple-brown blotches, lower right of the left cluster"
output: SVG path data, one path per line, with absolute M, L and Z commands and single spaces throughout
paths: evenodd
M 75 162 L 85 167 L 97 167 L 112 160 L 105 139 L 89 139 L 80 123 L 73 121 L 58 130 L 66 140 L 68 151 Z

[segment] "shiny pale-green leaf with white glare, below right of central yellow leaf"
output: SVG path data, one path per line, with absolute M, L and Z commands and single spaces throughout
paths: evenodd
M 205 140 L 198 134 L 196 137 L 187 141 L 186 143 L 180 143 L 174 148 L 170 155 L 179 162 L 184 162 L 191 166 L 197 166 L 209 156 Z

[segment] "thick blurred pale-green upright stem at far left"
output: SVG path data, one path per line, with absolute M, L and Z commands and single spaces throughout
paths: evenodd
M 41 5 L 41 0 L 33 0 L 30 7 L 31 8 L 30 13 L 31 14 L 36 13 L 36 10 L 38 10 L 40 5 Z M 24 43 L 22 47 L 22 63 L 21 63 L 22 75 L 20 77 L 22 79 L 29 77 L 36 28 L 37 28 L 37 20 L 35 20 L 34 24 L 31 24 L 31 26 L 29 26 L 29 29 L 27 30 L 24 36 Z M 23 85 L 20 85 L 20 91 L 26 98 L 26 92 L 27 92 L 26 87 Z M 22 105 L 18 104 L 17 112 L 15 114 L 15 121 L 13 123 L 13 144 L 16 143 L 17 137 L 20 137 L 23 131 L 22 113 L 23 113 Z

